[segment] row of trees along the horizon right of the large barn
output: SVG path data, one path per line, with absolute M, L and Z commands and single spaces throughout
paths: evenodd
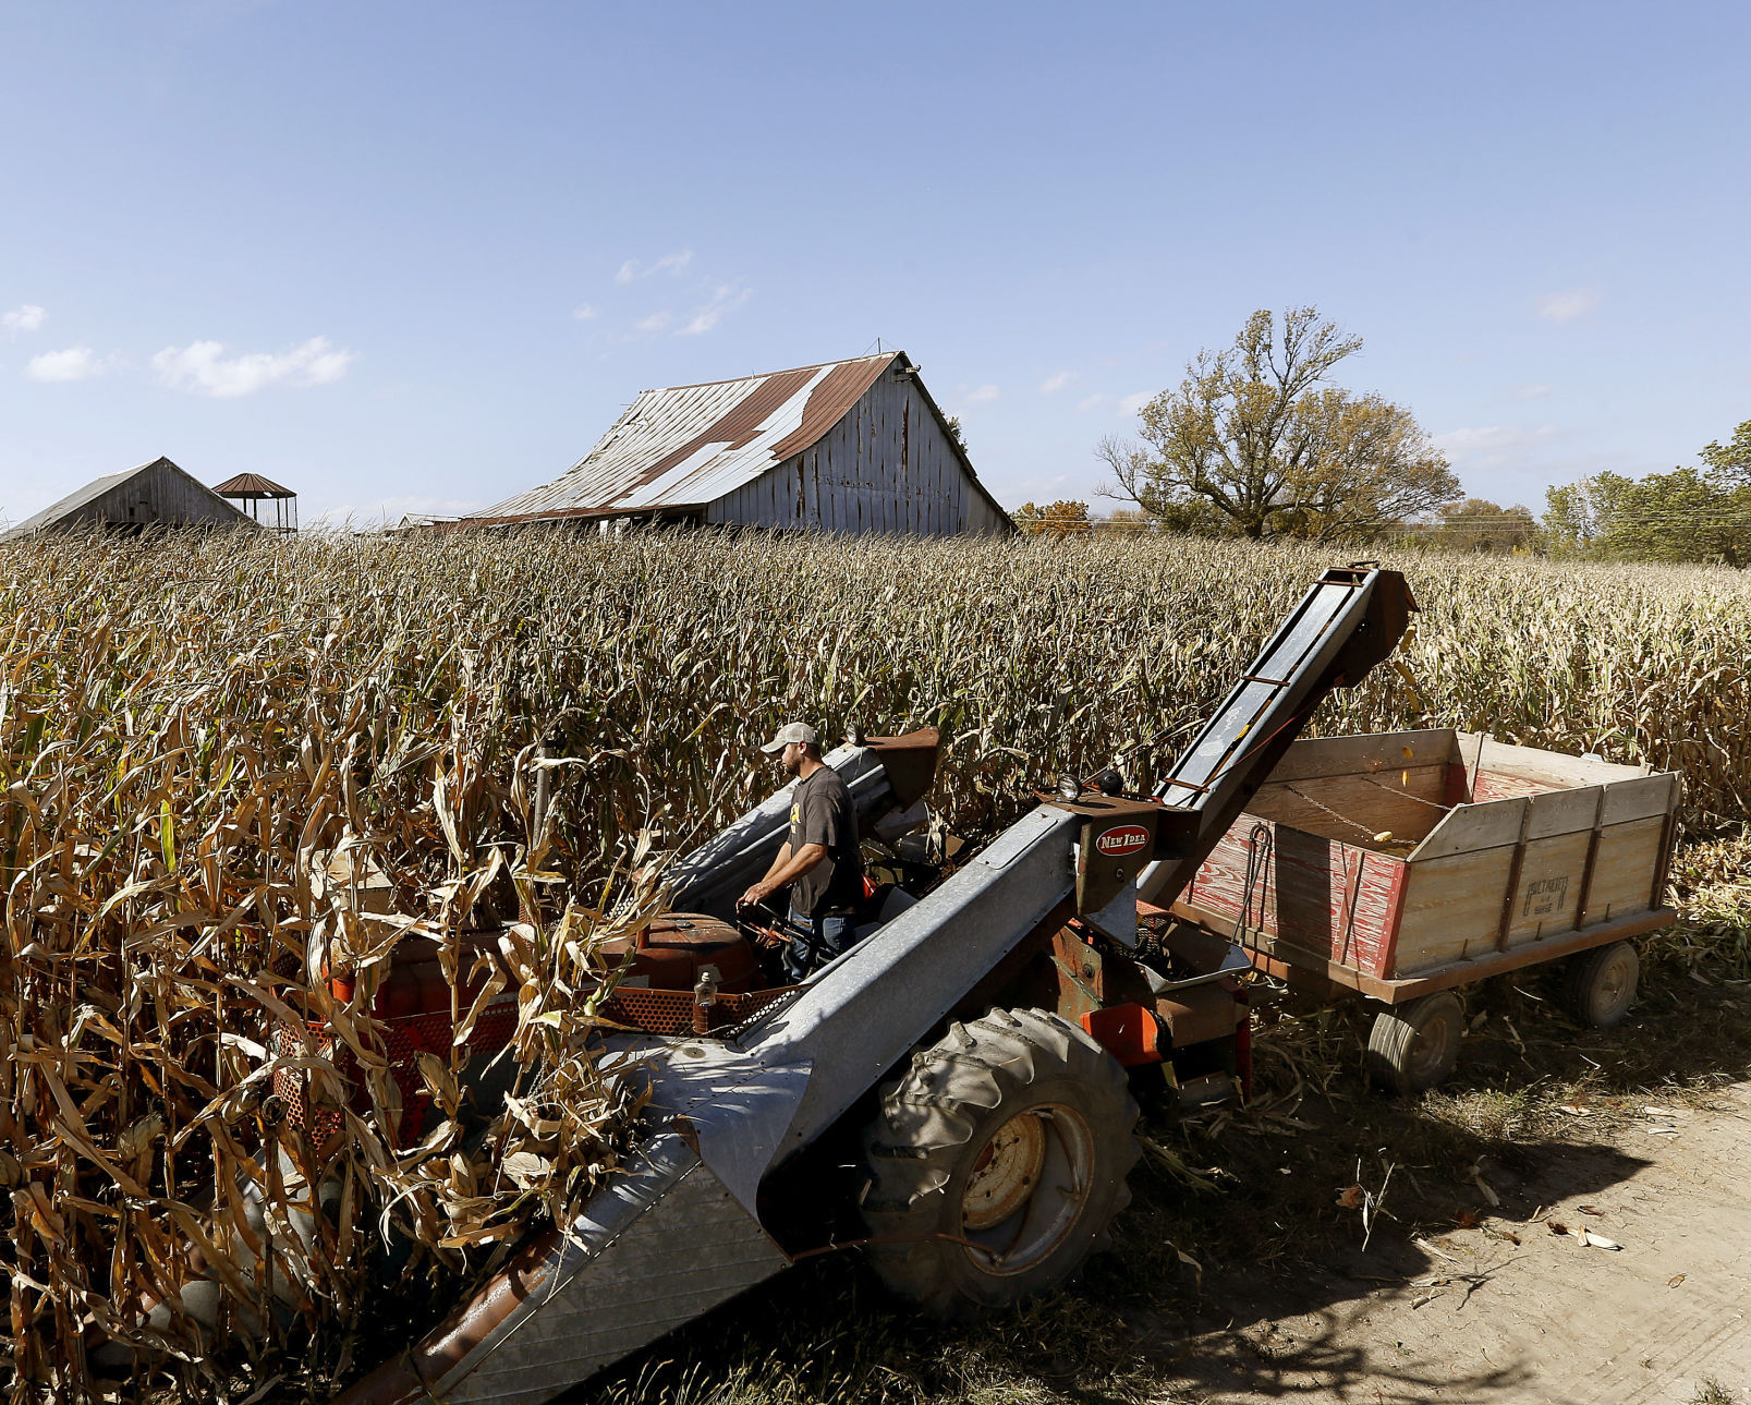
M 1462 498 L 1417 419 L 1331 382 L 1359 336 L 1317 308 L 1254 312 L 1222 350 L 1138 415 L 1138 440 L 1096 457 L 1124 503 L 1107 517 L 1075 499 L 1016 510 L 1026 533 L 1107 529 L 1306 541 L 1406 541 L 1460 552 L 1751 564 L 1751 419 L 1700 466 L 1628 478 L 1599 473 L 1546 489 L 1544 512 Z

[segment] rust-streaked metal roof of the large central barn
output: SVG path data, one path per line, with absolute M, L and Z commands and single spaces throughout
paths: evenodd
M 713 503 L 816 443 L 904 359 L 881 352 L 644 391 L 567 473 L 462 520 L 611 517 Z

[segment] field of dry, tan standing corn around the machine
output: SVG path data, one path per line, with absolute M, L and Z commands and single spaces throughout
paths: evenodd
M 770 788 L 756 739 L 791 717 L 933 724 L 935 802 L 989 836 L 1059 771 L 1184 745 L 1329 564 L 1161 540 L 0 548 L 11 1398 L 93 1393 L 114 1344 L 189 1398 L 371 1365 L 375 1277 L 454 1295 L 613 1167 L 636 1105 L 573 993 L 660 904 L 662 855 Z M 1317 731 L 1490 731 L 1681 769 L 1693 830 L 1751 813 L 1740 575 L 1389 564 L 1424 613 Z M 562 757 L 538 759 L 543 734 Z M 510 923 L 517 1095 L 469 1130 L 464 1053 L 425 1055 L 443 1116 L 397 1147 L 373 983 L 425 941 L 455 988 L 462 934 Z M 368 1112 L 331 1051 L 271 1055 L 273 1025 L 310 1020 L 364 1070 Z M 275 1116 L 275 1067 L 341 1135 Z

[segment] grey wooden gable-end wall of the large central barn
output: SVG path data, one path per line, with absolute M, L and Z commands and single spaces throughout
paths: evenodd
M 811 448 L 706 508 L 707 522 L 918 536 L 1007 531 L 911 375 L 883 375 Z

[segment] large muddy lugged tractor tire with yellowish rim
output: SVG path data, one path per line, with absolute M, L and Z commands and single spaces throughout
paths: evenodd
M 1059 1016 L 951 1025 L 881 1090 L 863 1133 L 870 1265 L 947 1319 L 1056 1288 L 1131 1200 L 1135 1123 L 1124 1069 Z

